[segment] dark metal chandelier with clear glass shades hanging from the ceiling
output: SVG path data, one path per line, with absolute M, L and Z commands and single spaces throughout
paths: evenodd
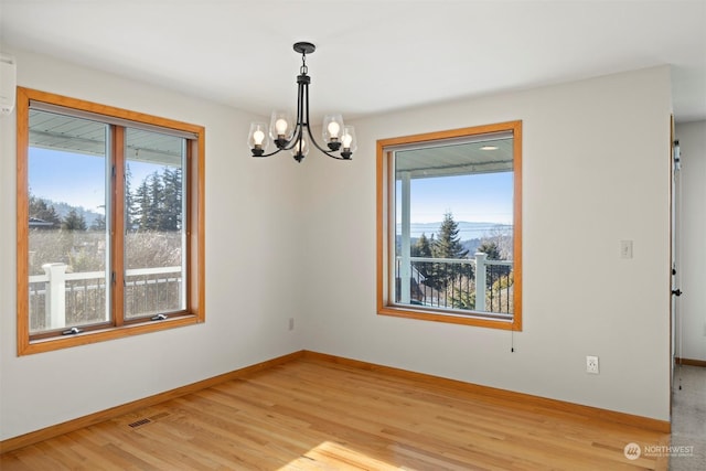
M 250 124 L 247 143 L 253 157 L 270 157 L 282 150 L 290 150 L 295 160 L 301 162 L 309 153 L 310 144 L 313 144 L 333 159 L 351 160 L 351 156 L 356 150 L 355 130 L 353 126 L 343 124 L 341 115 L 325 115 L 323 117 L 322 137 L 327 149 L 319 146 L 309 127 L 309 84 L 311 78 L 307 75 L 307 54 L 311 54 L 315 50 L 317 47 L 308 42 L 295 43 L 295 51 L 301 54 L 301 67 L 297 76 L 297 120 L 292 120 L 291 114 L 288 111 L 275 110 L 269 130 L 265 122 Z M 268 137 L 275 142 L 277 150 L 265 153 L 269 144 Z

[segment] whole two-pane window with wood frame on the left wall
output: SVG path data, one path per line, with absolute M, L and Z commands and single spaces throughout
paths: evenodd
M 204 129 L 18 88 L 18 354 L 204 321 Z

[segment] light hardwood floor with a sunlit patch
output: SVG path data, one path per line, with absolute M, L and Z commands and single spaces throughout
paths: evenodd
M 666 470 L 668 433 L 303 357 L 10 451 L 12 470 Z

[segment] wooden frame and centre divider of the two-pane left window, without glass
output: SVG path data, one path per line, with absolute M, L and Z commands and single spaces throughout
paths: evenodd
M 192 325 L 205 322 L 205 128 L 172 119 L 154 117 L 137 111 L 129 111 L 106 105 L 99 105 L 82 99 L 69 98 L 46 92 L 18 87 L 17 90 L 17 275 L 18 275 L 18 355 L 29 355 L 33 353 L 49 352 L 77 345 L 85 345 L 96 342 L 120 339 L 129 335 L 137 335 L 148 332 L 157 332 L 165 329 Z M 186 214 L 185 233 L 186 243 L 186 307 L 184 311 L 171 314 L 159 321 L 139 319 L 136 321 L 125 321 L 122 312 L 121 277 L 122 277 L 122 227 L 124 207 L 122 204 L 114 204 L 115 211 L 106 215 L 113 221 L 110 234 L 111 258 L 114 260 L 113 271 L 116 274 L 115 285 L 111 296 L 111 320 L 109 325 L 101 324 L 96 328 L 88 328 L 82 333 L 72 335 L 30 335 L 29 318 L 29 115 L 31 103 L 41 103 L 58 106 L 74 110 L 77 114 L 88 113 L 92 115 L 106 117 L 106 122 L 115 119 L 126 124 L 154 126 L 174 130 L 176 132 L 188 132 L 195 136 L 188 139 L 186 146 Z M 119 136 L 124 132 L 124 127 L 113 126 L 111 139 L 113 153 L 121 156 L 122 140 Z M 121 157 L 117 158 L 121 159 Z M 114 181 L 122 181 L 121 165 L 116 165 Z M 124 185 L 113 184 L 110 196 L 114 202 L 124 201 Z M 117 229 L 116 229 L 117 228 Z M 118 295 L 116 295 L 116 292 Z

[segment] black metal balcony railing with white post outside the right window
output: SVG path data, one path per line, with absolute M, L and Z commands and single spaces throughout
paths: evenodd
M 403 258 L 396 259 L 395 302 L 512 314 L 512 261 L 488 260 L 485 254 L 471 259 L 409 257 L 408 260 L 407 286 L 400 275 L 405 271 Z

